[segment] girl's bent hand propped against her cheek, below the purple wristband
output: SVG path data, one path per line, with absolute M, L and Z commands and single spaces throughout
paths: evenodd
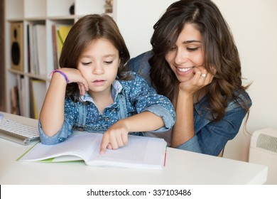
M 82 77 L 80 70 L 75 68 L 60 68 L 59 70 L 67 75 L 67 79 L 70 81 L 69 83 L 77 83 L 80 90 L 80 95 L 85 95 L 85 92 L 89 90 L 89 86 L 87 80 Z

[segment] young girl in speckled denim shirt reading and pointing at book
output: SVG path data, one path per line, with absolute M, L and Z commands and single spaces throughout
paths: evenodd
M 58 144 L 72 129 L 104 133 L 100 152 L 117 149 L 129 132 L 165 131 L 175 112 L 134 72 L 124 71 L 129 51 L 114 20 L 88 15 L 72 27 L 40 112 L 43 144 Z

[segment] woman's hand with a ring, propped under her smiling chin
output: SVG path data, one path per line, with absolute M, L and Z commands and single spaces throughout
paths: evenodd
M 202 66 L 195 68 L 194 74 L 195 75 L 190 80 L 180 82 L 179 88 L 181 91 L 193 94 L 197 92 L 197 90 L 200 90 L 202 87 L 209 85 L 214 78 L 214 75 L 207 72 L 207 70 Z

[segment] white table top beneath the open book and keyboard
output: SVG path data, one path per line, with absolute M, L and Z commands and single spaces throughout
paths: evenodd
M 13 114 L 4 114 L 36 127 L 38 121 Z M 207 156 L 168 148 L 163 171 L 131 168 L 86 166 L 82 161 L 67 163 L 18 162 L 16 159 L 31 148 L 0 139 L 0 184 L 119 184 L 119 185 L 203 185 L 263 184 L 267 166 Z

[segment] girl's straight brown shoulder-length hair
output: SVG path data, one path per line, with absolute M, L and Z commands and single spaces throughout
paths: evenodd
M 92 41 L 99 38 L 107 39 L 119 50 L 120 64 L 117 78 L 119 80 L 128 80 L 131 78 L 128 73 L 125 72 L 125 64 L 130 59 L 129 50 L 126 47 L 126 43 L 114 19 L 107 14 L 90 14 L 83 16 L 72 26 L 65 39 L 60 55 L 60 68 L 77 68 L 80 57 L 87 46 L 89 46 Z M 77 83 L 73 82 L 67 84 L 67 97 L 76 101 L 80 99 L 79 93 Z

